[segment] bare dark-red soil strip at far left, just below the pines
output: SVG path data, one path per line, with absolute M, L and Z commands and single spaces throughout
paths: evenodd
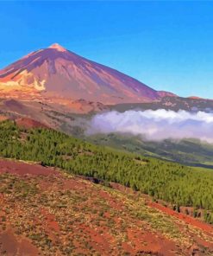
M 2 173 L 16 174 L 19 176 L 47 176 L 50 174 L 56 174 L 57 172 L 51 168 L 46 168 L 38 164 L 0 159 L 0 174 Z

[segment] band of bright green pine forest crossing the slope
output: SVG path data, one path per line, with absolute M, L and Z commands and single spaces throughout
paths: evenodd
M 26 130 L 11 121 L 0 125 L 0 156 L 59 167 L 72 174 L 93 176 L 167 202 L 171 208 L 193 208 L 213 223 L 213 172 L 178 163 L 112 150 L 72 138 L 59 131 Z

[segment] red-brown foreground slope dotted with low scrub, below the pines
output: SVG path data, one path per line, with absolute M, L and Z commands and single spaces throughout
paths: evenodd
M 213 228 L 119 185 L 0 159 L 0 255 L 213 255 Z

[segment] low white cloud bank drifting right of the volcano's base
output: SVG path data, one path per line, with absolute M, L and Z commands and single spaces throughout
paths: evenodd
M 213 143 L 213 113 L 160 110 L 104 112 L 91 118 L 88 134 L 130 133 L 147 140 L 198 138 Z

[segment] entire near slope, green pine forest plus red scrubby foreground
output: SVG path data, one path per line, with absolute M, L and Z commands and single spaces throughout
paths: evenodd
M 32 125 L 0 124 L 1 255 L 212 255 L 212 171 Z

